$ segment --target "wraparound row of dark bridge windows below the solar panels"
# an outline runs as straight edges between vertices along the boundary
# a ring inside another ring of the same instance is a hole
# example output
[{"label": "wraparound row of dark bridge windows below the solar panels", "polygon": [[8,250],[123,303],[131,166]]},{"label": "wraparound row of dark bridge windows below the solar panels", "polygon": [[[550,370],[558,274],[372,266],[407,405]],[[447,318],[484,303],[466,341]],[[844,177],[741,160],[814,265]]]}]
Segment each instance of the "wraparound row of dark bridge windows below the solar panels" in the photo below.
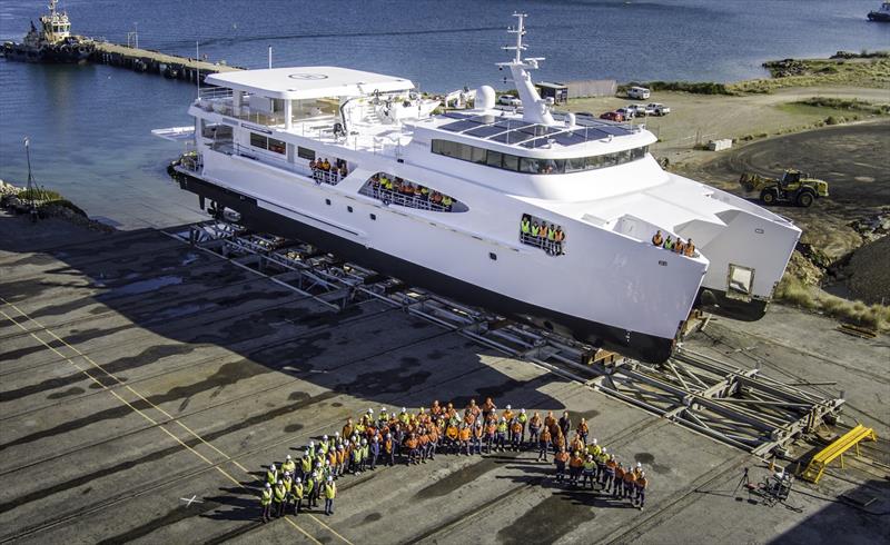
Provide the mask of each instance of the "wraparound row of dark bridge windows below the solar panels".
[{"label": "wraparound row of dark bridge windows below the solar panels", "polygon": [[503,153],[501,151],[469,146],[468,143],[434,139],[432,151],[441,156],[475,162],[477,165],[485,165],[486,167],[500,168],[502,170],[534,175],[557,175],[596,170],[636,161],[649,153],[649,146],[625,149],[613,153],[575,157],[571,159],[537,159]]}]

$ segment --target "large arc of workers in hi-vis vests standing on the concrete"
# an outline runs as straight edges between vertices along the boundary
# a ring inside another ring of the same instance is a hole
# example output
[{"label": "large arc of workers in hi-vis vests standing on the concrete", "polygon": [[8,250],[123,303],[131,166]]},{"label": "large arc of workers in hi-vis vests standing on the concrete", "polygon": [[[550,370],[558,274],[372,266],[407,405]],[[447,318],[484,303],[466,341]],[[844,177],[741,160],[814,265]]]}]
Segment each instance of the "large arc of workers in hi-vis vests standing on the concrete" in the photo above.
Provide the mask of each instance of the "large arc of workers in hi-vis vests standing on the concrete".
[{"label": "large arc of workers in hi-vis vests standing on the concrete", "polygon": [[[572,430],[574,438],[566,445]],[[304,508],[316,507],[322,497],[325,514],[332,515],[336,480],[378,465],[425,464],[443,453],[472,456],[533,448],[538,449],[537,459],[545,463],[547,455],[554,454],[556,482],[565,480],[568,467],[570,484],[577,486],[583,477],[581,485],[590,480],[593,488],[596,482],[603,490],[629,498],[642,509],[646,479],[641,465],[625,468],[597,446],[596,439],[587,445],[589,434],[587,422],[581,418],[573,426],[568,412],[556,419],[552,412],[542,418],[537,412],[530,416],[524,408],[514,410],[511,405],[498,410],[491,397],[482,405],[471,399],[463,410],[438,400],[416,413],[406,407],[389,413],[383,407],[375,416],[369,408],[355,420],[347,418],[333,435],[324,435],[317,443],[310,440],[299,459],[287,455],[280,467],[269,464],[260,496],[263,522],[290,509],[298,515]]]}]

